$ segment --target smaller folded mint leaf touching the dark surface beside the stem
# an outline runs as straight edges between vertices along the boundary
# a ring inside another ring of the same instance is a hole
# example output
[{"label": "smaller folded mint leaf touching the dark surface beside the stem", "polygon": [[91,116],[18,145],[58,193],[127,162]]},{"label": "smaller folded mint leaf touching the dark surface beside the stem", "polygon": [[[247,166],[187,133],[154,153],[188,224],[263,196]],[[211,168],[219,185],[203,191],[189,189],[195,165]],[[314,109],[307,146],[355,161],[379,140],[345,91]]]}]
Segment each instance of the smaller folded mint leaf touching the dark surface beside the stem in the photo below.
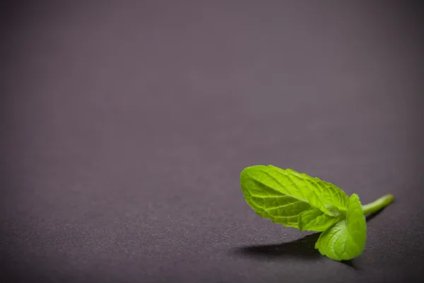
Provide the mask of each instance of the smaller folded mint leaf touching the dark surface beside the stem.
[{"label": "smaller folded mint leaf touching the dark surface beside the stem", "polygon": [[366,238],[367,224],[363,209],[358,195],[353,194],[348,201],[346,219],[322,232],[315,248],[332,260],[351,260],[363,253]]}]

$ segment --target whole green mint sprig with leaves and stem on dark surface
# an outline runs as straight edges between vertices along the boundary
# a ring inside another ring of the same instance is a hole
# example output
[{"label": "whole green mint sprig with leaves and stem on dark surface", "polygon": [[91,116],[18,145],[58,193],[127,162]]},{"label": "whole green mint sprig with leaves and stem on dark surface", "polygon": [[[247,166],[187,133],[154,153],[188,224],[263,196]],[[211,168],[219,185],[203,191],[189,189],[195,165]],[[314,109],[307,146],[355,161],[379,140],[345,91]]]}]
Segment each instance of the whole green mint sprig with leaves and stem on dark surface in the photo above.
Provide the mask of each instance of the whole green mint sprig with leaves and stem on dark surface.
[{"label": "whole green mint sprig with leaves and stem on dark surface", "polygon": [[322,232],[315,248],[333,260],[351,260],[365,248],[365,214],[393,202],[384,195],[362,206],[358,195],[305,173],[275,166],[250,166],[240,175],[247,204],[257,214],[300,231]]}]

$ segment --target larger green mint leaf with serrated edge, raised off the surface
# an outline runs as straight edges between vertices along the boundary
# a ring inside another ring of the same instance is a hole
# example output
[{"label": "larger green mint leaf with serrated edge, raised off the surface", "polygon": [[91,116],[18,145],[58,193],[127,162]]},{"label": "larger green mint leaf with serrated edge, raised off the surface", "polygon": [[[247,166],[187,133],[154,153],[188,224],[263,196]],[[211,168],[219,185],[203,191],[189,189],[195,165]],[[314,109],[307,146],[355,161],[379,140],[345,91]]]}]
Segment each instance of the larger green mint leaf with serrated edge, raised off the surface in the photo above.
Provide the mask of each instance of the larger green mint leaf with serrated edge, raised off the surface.
[{"label": "larger green mint leaf with serrated edge, raised off the surface", "polygon": [[[246,202],[257,214],[285,226],[300,228],[300,214],[310,209],[318,209],[333,218],[346,212],[348,196],[345,192],[291,169],[247,167],[240,175],[240,183]],[[310,216],[307,221],[312,221]],[[306,227],[310,231],[322,231],[322,224],[317,225],[312,222]]]}]

